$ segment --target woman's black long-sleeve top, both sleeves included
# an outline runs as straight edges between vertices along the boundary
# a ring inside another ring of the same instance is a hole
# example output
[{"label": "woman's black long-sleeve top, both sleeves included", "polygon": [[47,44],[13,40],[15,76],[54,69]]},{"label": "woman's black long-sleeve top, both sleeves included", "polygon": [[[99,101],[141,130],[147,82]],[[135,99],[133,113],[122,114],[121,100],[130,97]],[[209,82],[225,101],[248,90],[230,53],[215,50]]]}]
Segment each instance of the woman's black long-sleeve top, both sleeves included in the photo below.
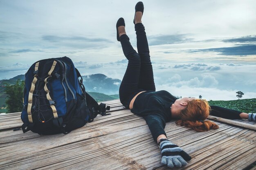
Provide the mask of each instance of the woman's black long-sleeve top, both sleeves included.
[{"label": "woman's black long-sleeve top, both sleeves included", "polygon": [[[171,121],[171,105],[177,100],[165,90],[146,91],[135,99],[131,112],[142,116],[150,129],[155,142],[159,135],[166,135],[165,123]],[[240,111],[211,105],[211,115],[228,119],[240,119]]]}]

